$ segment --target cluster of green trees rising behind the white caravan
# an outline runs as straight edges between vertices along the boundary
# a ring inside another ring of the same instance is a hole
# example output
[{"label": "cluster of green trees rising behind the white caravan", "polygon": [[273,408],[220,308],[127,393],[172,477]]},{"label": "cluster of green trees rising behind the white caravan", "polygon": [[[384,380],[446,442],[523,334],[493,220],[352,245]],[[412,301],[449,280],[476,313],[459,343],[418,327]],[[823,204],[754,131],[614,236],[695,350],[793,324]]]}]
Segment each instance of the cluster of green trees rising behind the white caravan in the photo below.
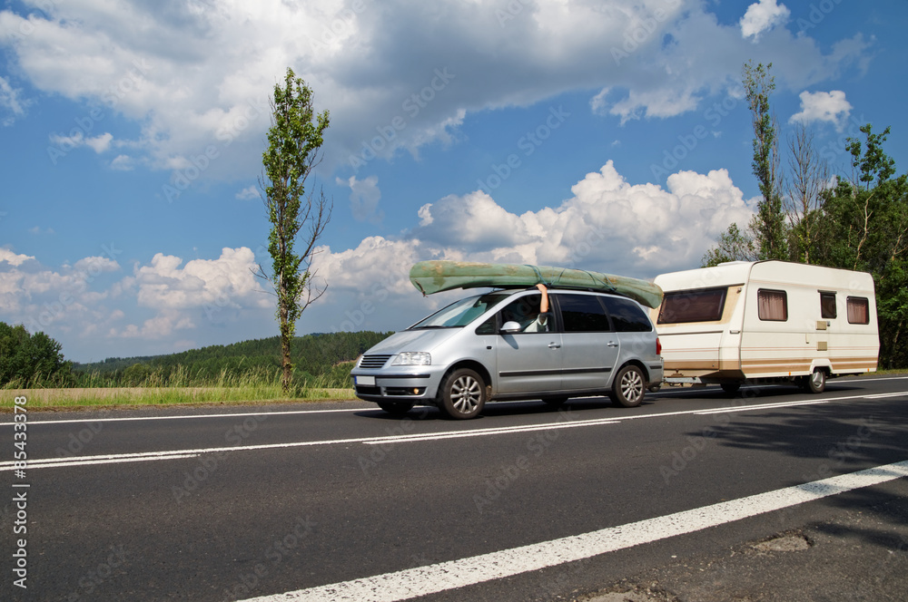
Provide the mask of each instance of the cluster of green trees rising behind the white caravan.
[{"label": "cluster of green trees rising behind the white caravan", "polygon": [[874,133],[869,123],[861,127],[863,138],[849,138],[846,146],[851,176],[833,178],[813,133],[797,124],[783,174],[769,105],[771,66],[747,63],[744,69],[754,116],[752,166],[763,198],[747,230],[731,224],[702,265],[786,259],[869,272],[876,286],[880,365],[908,366],[908,176],[896,176],[895,161],[883,150],[890,128]]}]

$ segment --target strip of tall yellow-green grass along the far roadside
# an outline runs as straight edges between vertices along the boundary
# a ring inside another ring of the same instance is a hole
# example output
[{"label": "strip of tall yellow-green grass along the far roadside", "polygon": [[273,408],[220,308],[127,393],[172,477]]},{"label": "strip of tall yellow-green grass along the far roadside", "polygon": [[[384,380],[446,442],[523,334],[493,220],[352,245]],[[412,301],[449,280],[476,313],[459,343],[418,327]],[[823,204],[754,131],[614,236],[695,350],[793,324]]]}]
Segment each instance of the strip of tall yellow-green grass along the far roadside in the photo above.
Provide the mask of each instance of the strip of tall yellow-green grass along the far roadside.
[{"label": "strip of tall yellow-green grass along the far roadside", "polygon": [[137,406],[209,403],[281,403],[353,399],[352,389],[307,387],[293,397],[277,384],[207,387],[91,387],[72,389],[5,389],[0,391],[0,412],[12,412],[16,397],[28,400],[28,409],[130,408]]}]

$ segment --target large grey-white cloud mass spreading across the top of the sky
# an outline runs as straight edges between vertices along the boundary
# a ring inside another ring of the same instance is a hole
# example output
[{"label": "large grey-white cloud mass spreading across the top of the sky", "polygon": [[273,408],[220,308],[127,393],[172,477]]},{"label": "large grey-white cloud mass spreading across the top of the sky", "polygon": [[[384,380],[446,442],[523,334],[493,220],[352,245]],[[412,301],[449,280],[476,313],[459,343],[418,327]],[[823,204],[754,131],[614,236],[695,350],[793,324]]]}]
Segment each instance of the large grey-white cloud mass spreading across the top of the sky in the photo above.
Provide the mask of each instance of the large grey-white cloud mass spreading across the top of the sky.
[{"label": "large grey-white cloud mass spreading across the top of the sky", "polygon": [[[737,85],[752,54],[742,33],[755,37],[787,15],[761,0],[739,28],[718,24],[706,4],[538,0],[508,5],[502,19],[502,5],[462,0],[55,3],[27,17],[0,11],[0,46],[37,90],[139,124],[136,140],[96,136],[95,150],[128,143],[137,160],[182,170],[213,146],[204,178],[232,180],[255,175],[268,96],[287,65],[311,85],[316,109],[331,109],[329,171],[454,141],[471,112],[562,92],[611,90],[609,102],[596,95],[592,108],[621,121],[692,111]],[[30,34],[17,35],[23,27]],[[800,87],[866,47],[824,55],[807,36],[773,34],[767,62],[780,82]],[[3,89],[8,106],[22,106],[9,100],[8,82]],[[87,145],[88,136],[57,140]]]}]

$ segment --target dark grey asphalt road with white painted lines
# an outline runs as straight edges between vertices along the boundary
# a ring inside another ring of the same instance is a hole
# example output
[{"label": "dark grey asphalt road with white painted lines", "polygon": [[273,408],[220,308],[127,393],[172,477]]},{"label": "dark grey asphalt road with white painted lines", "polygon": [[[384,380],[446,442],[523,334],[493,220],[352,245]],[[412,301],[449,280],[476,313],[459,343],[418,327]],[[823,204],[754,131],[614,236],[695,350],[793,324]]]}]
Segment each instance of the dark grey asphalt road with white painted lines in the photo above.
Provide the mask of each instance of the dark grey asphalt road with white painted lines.
[{"label": "dark grey asphalt road with white painted lines", "polygon": [[906,599],[906,402],[888,376],[467,422],[360,402],[28,413],[19,476],[5,414],[0,598]]}]

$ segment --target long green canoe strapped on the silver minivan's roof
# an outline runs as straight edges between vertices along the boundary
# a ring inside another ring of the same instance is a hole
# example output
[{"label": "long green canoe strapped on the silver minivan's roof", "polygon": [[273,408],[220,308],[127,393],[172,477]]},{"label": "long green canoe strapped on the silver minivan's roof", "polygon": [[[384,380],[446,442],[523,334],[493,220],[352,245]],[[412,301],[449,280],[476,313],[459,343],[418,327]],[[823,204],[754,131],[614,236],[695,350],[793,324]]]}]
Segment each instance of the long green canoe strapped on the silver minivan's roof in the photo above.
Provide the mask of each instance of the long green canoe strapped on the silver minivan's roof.
[{"label": "long green canoe strapped on the silver minivan's roof", "polygon": [[638,278],[612,276],[568,267],[488,264],[472,261],[420,261],[410,268],[410,282],[423,295],[454,288],[481,286],[534,286],[595,289],[614,292],[658,307],[662,289]]}]

